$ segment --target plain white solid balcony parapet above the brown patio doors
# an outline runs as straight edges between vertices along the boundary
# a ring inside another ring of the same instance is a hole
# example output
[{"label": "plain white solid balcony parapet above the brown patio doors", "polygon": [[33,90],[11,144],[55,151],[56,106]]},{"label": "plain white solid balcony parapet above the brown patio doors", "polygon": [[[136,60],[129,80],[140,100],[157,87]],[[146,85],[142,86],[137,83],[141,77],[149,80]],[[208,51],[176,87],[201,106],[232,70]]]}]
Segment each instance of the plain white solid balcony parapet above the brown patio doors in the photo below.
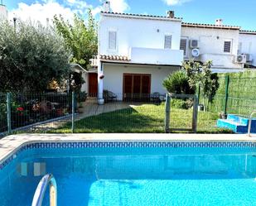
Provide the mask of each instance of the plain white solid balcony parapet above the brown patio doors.
[{"label": "plain white solid balcony parapet above the brown patio doors", "polygon": [[145,65],[181,65],[182,50],[165,50],[132,47],[130,50],[131,63]]}]

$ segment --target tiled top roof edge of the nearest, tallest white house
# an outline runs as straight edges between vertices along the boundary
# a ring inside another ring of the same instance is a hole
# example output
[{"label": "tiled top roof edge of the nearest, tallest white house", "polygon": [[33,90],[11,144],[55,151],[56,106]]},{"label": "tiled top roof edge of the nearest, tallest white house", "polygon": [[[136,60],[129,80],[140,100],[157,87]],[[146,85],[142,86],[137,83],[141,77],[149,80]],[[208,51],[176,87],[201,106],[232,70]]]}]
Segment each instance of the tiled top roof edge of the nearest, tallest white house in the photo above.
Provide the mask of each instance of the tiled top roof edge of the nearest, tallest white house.
[{"label": "tiled top roof edge of the nearest, tallest white house", "polygon": [[143,19],[157,19],[157,20],[166,20],[166,21],[181,21],[180,17],[165,17],[165,16],[156,16],[156,15],[147,15],[147,14],[133,14],[133,13],[119,13],[119,12],[101,12],[106,16],[113,17],[128,17],[128,18],[143,18]]}]

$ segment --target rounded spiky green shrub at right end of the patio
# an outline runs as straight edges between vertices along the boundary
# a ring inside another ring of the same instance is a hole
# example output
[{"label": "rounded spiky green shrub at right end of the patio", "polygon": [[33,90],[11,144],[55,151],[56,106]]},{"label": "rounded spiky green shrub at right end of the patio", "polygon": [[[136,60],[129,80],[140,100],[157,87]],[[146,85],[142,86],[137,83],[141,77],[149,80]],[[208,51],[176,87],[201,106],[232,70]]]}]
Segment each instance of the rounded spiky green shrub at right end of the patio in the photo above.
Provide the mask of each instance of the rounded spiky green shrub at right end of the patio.
[{"label": "rounded spiky green shrub at right end of the patio", "polygon": [[195,89],[190,87],[189,78],[186,72],[178,70],[172,74],[169,74],[167,79],[163,80],[162,85],[167,89],[169,93],[175,94],[193,94]]}]

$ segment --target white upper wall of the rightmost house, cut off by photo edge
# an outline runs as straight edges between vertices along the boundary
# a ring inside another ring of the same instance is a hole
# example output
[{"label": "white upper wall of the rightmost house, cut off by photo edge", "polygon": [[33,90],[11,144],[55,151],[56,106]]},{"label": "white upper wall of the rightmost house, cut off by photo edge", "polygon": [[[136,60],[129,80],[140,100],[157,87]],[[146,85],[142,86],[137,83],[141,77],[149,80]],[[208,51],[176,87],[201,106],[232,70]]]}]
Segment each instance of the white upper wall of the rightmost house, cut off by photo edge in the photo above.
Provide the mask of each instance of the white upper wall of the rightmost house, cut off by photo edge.
[{"label": "white upper wall of the rightmost house, cut off by photo edge", "polygon": [[253,65],[256,66],[256,34],[239,34],[240,53],[253,55]]}]

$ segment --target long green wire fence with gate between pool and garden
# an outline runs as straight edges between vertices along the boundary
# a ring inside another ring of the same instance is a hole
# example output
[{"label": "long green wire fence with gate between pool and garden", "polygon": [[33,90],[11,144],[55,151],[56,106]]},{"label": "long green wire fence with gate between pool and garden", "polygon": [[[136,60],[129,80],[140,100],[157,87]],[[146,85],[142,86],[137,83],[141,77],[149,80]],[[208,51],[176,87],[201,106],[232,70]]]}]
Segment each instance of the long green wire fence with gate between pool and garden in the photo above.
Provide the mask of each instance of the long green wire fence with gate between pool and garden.
[{"label": "long green wire fence with gate between pool and garden", "polygon": [[216,94],[213,102],[182,94],[109,99],[104,105],[89,96],[77,103],[75,93],[2,93],[0,133],[230,132],[216,127],[225,108],[226,113],[245,117],[256,109],[254,98],[225,94]]}]

